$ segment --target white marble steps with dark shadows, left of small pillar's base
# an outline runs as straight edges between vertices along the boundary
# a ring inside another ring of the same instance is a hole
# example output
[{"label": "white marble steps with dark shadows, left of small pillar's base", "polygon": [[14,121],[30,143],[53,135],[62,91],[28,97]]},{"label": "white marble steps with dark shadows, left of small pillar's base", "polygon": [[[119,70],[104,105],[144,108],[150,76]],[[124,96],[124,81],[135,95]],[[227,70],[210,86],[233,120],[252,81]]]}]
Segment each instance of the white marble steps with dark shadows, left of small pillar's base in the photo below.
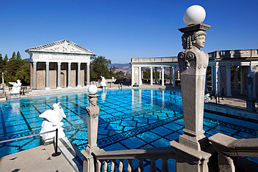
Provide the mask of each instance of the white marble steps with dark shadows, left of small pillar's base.
[{"label": "white marble steps with dark shadows, left of small pillar's base", "polygon": [[67,139],[67,137],[59,139],[58,148],[63,156],[66,157],[70,165],[73,166],[75,171],[83,171],[83,155],[79,152],[79,149]]}]

